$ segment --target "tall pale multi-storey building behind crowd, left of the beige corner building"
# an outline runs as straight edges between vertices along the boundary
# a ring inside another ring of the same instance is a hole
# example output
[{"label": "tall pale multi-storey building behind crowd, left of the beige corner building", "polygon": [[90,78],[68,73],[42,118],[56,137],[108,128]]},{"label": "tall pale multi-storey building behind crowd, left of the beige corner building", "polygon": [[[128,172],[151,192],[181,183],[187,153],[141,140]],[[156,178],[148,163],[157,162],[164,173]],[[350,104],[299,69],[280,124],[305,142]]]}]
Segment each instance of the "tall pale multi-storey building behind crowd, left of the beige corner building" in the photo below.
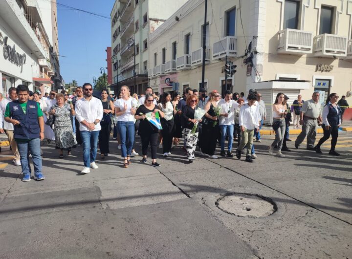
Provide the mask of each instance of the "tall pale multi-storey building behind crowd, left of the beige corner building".
[{"label": "tall pale multi-storey building behind crowd, left of the beige corner building", "polygon": [[[148,86],[149,35],[187,0],[116,0],[111,10],[112,86]],[[135,66],[134,66],[135,65]],[[134,86],[134,67],[136,84]]]}]

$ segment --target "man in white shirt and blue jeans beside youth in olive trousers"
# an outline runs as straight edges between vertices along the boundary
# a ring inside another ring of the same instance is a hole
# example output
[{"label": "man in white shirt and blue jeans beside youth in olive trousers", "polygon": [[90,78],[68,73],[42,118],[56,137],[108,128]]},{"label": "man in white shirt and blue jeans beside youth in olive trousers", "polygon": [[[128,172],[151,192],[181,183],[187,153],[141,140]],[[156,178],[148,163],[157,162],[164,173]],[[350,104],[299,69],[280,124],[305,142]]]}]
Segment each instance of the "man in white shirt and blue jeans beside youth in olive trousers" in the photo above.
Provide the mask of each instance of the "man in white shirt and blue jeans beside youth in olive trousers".
[{"label": "man in white shirt and blue jeans beside youth in olive trousers", "polygon": [[[218,106],[221,107],[219,119],[219,126],[221,130],[220,155],[227,155],[228,157],[233,157],[231,150],[233,142],[233,130],[235,124],[235,109],[238,108],[239,104],[236,101],[232,100],[232,92],[230,90],[226,90],[225,98],[220,100]],[[228,136],[227,153],[225,153],[226,134]]]}]

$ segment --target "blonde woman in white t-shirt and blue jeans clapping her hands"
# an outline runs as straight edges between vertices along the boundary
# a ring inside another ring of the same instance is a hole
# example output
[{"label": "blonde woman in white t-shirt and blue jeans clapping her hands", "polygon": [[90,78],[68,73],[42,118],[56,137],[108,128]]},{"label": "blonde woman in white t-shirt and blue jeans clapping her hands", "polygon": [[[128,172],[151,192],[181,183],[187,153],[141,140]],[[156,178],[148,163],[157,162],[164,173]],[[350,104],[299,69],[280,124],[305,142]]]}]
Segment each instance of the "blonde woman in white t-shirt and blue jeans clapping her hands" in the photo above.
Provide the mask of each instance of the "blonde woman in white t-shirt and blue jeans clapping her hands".
[{"label": "blonde woman in white t-shirt and blue jeans clapping her hands", "polygon": [[117,116],[117,129],[121,139],[121,156],[124,158],[124,168],[131,164],[131,151],[134,142],[134,114],[138,103],[130,96],[130,88],[121,86],[121,99],[114,103]]}]

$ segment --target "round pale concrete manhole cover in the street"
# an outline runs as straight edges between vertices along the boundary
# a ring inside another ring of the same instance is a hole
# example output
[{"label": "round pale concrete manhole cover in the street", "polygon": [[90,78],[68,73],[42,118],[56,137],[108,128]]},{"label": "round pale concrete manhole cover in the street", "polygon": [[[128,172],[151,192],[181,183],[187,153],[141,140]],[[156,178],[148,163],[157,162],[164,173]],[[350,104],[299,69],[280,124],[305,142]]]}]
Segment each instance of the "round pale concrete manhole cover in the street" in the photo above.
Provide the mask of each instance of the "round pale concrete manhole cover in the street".
[{"label": "round pale concrete manhole cover in the street", "polygon": [[277,211],[272,199],[259,194],[226,193],[215,205],[221,211],[235,216],[265,217]]}]

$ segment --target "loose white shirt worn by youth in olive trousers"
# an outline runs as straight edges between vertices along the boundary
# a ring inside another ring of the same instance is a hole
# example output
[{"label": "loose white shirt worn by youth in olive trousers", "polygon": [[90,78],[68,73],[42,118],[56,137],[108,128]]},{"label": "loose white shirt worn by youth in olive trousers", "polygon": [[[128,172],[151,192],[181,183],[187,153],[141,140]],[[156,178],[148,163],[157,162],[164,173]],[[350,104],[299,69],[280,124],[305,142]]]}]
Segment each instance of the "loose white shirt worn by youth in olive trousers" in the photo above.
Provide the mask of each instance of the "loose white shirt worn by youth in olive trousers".
[{"label": "loose white shirt worn by youth in olive trousers", "polygon": [[239,124],[245,129],[259,129],[259,121],[261,116],[258,106],[248,104],[242,105],[240,108]]}]

